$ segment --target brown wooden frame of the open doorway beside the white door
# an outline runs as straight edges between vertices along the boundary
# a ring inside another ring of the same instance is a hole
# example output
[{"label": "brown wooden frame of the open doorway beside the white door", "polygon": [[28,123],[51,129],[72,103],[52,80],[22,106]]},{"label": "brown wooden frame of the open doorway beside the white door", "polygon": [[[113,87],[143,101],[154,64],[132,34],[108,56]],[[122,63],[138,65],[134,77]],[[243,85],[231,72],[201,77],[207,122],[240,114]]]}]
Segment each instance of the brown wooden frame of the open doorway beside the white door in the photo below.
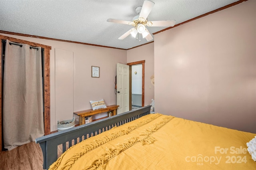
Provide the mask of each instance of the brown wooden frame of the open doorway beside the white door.
[{"label": "brown wooden frame of the open doorway beside the white door", "polygon": [[[145,96],[145,90],[144,90],[144,86],[145,86],[145,60],[142,61],[136,61],[136,62],[132,62],[132,63],[127,63],[127,65],[130,66],[130,87],[129,87],[129,93],[132,94],[132,65],[138,65],[138,64],[142,64],[142,101],[141,101],[141,106],[144,107],[144,96]],[[132,110],[132,95],[130,95],[130,99],[129,99],[129,109]]]}]

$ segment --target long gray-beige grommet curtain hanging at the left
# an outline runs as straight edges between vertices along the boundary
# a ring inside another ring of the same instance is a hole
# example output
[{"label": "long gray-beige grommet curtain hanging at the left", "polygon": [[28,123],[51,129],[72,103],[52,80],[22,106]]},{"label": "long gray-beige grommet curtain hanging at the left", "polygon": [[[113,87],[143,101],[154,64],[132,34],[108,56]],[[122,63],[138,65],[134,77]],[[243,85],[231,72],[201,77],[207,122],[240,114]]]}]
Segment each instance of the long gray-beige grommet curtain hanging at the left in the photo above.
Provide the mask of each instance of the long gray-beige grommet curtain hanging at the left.
[{"label": "long gray-beige grommet curtain hanging at the left", "polygon": [[[3,82],[4,148],[44,135],[41,47],[6,40]],[[22,46],[22,47],[21,47]]]}]

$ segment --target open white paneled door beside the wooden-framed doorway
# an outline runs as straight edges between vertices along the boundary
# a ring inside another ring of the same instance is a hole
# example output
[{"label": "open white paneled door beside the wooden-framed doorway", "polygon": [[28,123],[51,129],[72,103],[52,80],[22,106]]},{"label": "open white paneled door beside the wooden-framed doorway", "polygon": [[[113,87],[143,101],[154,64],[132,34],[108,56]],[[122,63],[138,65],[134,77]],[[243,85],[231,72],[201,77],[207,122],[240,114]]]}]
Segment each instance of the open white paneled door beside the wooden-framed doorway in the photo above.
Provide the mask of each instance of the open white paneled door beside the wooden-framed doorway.
[{"label": "open white paneled door beside the wooden-framed doorway", "polygon": [[117,114],[129,111],[129,65],[116,64]]}]

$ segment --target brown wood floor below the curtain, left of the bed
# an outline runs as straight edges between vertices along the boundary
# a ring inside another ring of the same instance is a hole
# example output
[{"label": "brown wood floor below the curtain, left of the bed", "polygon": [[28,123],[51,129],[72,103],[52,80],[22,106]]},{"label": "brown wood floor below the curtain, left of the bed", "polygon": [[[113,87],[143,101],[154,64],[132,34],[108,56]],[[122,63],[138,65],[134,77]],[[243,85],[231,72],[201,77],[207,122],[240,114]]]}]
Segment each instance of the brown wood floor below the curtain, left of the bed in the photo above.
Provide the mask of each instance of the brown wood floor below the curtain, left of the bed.
[{"label": "brown wood floor below the curtain, left of the bed", "polygon": [[42,150],[35,142],[0,152],[1,170],[42,170],[42,164]]}]

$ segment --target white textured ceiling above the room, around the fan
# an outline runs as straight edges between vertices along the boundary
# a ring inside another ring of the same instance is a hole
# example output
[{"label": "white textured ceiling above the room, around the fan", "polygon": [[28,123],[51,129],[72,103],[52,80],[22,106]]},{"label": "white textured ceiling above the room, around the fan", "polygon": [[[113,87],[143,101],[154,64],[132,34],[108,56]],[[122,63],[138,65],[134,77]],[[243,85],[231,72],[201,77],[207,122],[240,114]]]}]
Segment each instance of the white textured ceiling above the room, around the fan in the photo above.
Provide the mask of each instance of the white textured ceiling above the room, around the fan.
[{"label": "white textured ceiling above the room, around the fan", "polygon": [[[216,10],[238,0],[151,0],[155,3],[149,21],[176,20],[176,24]],[[148,43],[128,36],[126,24],[108,18],[132,21],[135,8],[144,0],[0,0],[0,30],[59,40],[129,49]],[[155,33],[167,27],[147,27]],[[152,35],[154,37],[154,35]],[[154,41],[154,40],[152,40]]]}]

